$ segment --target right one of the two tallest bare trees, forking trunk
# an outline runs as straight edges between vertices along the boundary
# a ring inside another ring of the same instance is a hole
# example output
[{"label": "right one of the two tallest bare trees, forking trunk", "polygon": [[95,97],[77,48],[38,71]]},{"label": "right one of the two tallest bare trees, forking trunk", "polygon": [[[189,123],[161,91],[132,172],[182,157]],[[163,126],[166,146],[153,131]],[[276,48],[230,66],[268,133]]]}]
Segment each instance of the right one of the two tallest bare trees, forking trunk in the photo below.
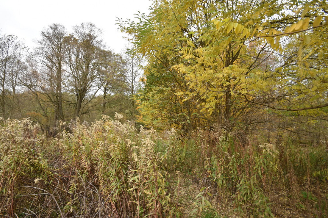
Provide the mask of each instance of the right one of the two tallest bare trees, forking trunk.
[{"label": "right one of the two tallest bare trees, forking trunk", "polygon": [[106,56],[101,31],[92,23],[73,27],[70,35],[67,63],[69,65],[69,90],[75,96],[75,116],[88,113],[88,104],[100,90],[99,72]]}]

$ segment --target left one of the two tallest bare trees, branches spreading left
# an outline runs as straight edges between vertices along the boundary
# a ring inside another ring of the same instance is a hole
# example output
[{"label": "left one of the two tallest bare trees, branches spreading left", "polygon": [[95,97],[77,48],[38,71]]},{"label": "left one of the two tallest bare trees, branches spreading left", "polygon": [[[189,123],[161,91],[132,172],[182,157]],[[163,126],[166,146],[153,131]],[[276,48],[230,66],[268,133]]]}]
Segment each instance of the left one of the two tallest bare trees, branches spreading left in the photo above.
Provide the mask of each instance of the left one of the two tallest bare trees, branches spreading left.
[{"label": "left one of the two tallest bare trees, branches spreading left", "polygon": [[21,83],[37,103],[35,113],[42,116],[37,119],[48,134],[54,134],[58,120],[65,120],[63,113],[63,77],[65,56],[67,55],[67,32],[63,25],[52,24],[41,31],[39,45],[29,56],[29,71],[22,77]]}]

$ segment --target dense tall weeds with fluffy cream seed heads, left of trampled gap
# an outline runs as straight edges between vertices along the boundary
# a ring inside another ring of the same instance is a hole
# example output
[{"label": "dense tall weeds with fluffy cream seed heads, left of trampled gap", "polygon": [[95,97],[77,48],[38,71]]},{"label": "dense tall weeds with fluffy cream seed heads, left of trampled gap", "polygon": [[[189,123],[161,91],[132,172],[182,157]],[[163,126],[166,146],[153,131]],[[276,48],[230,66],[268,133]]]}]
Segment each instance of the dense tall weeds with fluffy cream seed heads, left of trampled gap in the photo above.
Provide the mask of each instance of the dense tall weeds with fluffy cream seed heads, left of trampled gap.
[{"label": "dense tall weeds with fluffy cream seed heads, left of trampled gap", "polygon": [[[108,116],[90,127],[77,119],[57,138],[39,135],[30,120],[2,120],[2,214],[26,217],[175,217],[156,132]],[[169,144],[167,145],[169,146]],[[168,149],[168,148],[167,148]]]}]

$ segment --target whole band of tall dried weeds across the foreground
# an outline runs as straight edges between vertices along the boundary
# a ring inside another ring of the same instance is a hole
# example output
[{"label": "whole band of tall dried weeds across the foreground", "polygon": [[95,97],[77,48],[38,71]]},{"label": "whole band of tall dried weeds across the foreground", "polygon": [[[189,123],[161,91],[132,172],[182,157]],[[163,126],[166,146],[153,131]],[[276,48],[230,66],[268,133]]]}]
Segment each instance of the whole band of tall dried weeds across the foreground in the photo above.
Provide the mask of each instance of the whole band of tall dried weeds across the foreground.
[{"label": "whole band of tall dried weeds across the foreground", "polygon": [[[306,217],[327,215],[327,143],[225,137],[181,140],[108,116],[62,123],[47,138],[30,119],[1,120],[3,217]],[[188,183],[188,181],[190,183]],[[191,193],[185,185],[194,187]],[[192,203],[183,203],[185,199]],[[293,213],[287,213],[287,209]],[[283,211],[282,209],[285,209]]]}]

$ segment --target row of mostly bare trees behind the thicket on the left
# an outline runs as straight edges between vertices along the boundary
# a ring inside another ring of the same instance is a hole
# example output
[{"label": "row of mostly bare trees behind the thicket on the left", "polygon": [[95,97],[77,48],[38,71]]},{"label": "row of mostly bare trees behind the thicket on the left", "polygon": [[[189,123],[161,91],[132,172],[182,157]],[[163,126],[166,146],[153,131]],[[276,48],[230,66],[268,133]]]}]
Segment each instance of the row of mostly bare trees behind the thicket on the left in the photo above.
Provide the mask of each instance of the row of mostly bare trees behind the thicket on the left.
[{"label": "row of mostly bare trees behind the thicket on the left", "polygon": [[134,120],[141,59],[128,48],[123,55],[106,48],[94,24],[72,33],[52,24],[31,53],[12,35],[0,35],[0,43],[1,117],[31,117],[48,134],[75,117],[94,121],[119,111]]}]

